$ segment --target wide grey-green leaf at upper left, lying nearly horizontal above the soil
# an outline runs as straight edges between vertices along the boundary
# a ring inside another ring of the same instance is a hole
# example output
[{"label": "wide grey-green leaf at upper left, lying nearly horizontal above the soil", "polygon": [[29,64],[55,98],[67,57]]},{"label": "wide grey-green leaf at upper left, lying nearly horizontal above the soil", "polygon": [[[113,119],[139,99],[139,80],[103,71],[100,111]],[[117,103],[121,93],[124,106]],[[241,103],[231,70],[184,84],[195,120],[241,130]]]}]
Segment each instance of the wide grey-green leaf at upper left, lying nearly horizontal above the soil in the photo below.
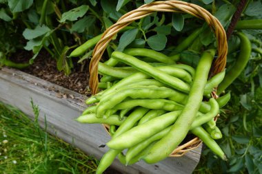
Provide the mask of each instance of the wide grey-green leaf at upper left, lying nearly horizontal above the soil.
[{"label": "wide grey-green leaf at upper left, lying nearly horizontal above the soil", "polygon": [[42,25],[42,26],[37,25],[37,27],[34,28],[33,30],[26,28],[26,30],[23,31],[23,36],[25,39],[31,40],[39,36],[42,36],[50,31],[51,31],[50,28],[48,28],[46,25]]}]

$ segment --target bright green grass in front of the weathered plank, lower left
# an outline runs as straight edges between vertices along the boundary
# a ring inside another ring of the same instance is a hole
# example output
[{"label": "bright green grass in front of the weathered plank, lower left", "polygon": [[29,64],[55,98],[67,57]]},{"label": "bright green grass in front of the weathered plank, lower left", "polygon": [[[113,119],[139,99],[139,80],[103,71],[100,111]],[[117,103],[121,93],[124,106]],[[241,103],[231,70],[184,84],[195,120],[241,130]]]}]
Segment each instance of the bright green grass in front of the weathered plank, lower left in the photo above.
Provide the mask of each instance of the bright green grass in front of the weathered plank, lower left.
[{"label": "bright green grass in front of the weathered plank, lower left", "polygon": [[0,102],[0,173],[95,173],[99,161],[41,129],[32,108],[34,122]]}]

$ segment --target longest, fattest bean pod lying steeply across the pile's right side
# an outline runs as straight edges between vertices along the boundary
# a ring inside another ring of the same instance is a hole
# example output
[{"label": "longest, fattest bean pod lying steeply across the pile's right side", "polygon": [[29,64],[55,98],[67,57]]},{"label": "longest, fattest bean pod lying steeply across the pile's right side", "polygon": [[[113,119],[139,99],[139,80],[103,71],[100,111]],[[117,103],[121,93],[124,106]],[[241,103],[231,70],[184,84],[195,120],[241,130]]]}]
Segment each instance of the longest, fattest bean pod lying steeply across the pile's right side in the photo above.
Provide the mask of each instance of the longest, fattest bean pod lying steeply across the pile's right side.
[{"label": "longest, fattest bean pod lying steeply across the pile's right side", "polygon": [[152,164],[165,159],[165,157],[168,157],[188,134],[191,124],[201,105],[201,101],[203,100],[203,92],[208,80],[213,58],[214,50],[208,50],[201,56],[199,64],[196,67],[196,75],[193,80],[187,104],[183,108],[177,121],[174,122],[168,135],[165,135],[164,138],[154,144],[148,155],[143,158],[145,162]]}]

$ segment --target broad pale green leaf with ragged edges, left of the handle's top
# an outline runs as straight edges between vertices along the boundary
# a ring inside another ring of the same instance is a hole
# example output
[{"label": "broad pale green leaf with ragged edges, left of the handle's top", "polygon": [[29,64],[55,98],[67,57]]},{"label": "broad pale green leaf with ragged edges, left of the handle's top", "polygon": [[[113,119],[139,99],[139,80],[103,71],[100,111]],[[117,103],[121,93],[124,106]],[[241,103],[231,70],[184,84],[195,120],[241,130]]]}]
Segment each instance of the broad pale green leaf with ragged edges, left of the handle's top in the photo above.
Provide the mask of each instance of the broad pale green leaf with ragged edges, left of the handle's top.
[{"label": "broad pale green leaf with ragged edges, left of the handle's top", "polygon": [[61,23],[68,21],[76,21],[79,17],[83,17],[86,12],[88,12],[89,6],[82,5],[78,8],[73,8],[72,10],[69,10],[68,12],[64,12],[62,14],[62,18],[60,20]]}]

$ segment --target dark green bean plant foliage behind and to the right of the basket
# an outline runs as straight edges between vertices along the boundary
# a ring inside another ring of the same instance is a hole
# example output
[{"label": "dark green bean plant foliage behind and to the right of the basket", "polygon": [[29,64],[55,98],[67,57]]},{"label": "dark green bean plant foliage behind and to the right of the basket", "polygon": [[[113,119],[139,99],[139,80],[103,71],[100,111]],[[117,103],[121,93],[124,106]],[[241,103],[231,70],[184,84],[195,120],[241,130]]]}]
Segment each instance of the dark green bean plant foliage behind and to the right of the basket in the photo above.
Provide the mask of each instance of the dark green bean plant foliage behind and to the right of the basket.
[{"label": "dark green bean plant foliage behind and to the right of the basket", "polygon": [[[239,0],[186,0],[211,12],[228,29]],[[69,75],[75,63],[86,65],[94,45],[77,57],[70,53],[79,45],[103,33],[126,12],[152,0],[0,0],[0,52],[11,58],[19,50],[34,54],[34,63],[41,50],[57,61],[57,69]],[[240,20],[261,19],[261,1],[248,1]],[[179,50],[179,43],[199,30],[190,47]],[[237,30],[235,30],[236,32]],[[238,30],[240,31],[240,30]],[[209,150],[203,151],[203,164],[196,173],[262,173],[262,30],[241,30],[252,43],[248,65],[227,90],[231,90],[230,104],[218,120],[223,131],[220,145],[228,156],[224,162]],[[227,71],[236,63],[239,38],[228,38]],[[154,12],[134,21],[114,37],[103,54],[106,61],[114,50],[128,47],[148,47],[167,55],[180,54],[181,63],[196,67],[203,50],[216,47],[214,32],[201,19],[190,14]],[[0,65],[4,65],[3,58]],[[217,169],[218,168],[218,169]]]}]

